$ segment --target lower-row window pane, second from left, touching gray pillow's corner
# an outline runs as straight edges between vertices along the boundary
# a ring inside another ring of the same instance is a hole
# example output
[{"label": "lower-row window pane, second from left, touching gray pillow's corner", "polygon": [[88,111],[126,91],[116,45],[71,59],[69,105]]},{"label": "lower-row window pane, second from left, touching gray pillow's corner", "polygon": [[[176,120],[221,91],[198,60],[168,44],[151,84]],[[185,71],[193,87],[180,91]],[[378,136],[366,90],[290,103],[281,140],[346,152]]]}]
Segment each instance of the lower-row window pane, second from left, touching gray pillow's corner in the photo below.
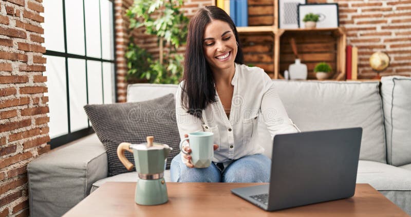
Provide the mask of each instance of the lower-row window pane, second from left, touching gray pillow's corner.
[{"label": "lower-row window pane, second from left, touching gray pillow's corner", "polygon": [[86,61],[68,58],[70,132],[88,128],[83,106],[87,104]]}]

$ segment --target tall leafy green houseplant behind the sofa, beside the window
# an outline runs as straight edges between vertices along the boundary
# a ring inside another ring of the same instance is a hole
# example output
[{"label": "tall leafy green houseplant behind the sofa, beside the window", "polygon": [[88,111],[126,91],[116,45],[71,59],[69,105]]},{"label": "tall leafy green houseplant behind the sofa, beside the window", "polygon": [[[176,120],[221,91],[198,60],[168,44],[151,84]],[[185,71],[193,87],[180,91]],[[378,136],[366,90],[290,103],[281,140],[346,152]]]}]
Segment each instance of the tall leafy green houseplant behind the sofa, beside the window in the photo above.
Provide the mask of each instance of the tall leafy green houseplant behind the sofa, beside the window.
[{"label": "tall leafy green houseplant behind the sofa, beside the window", "polygon": [[[183,73],[183,56],[177,49],[185,44],[189,19],[181,11],[183,0],[135,0],[127,10],[130,31],[145,28],[146,34],[158,37],[159,59],[130,39],[126,51],[126,79],[146,79],[150,83],[177,84]],[[164,50],[165,45],[167,50]]]}]

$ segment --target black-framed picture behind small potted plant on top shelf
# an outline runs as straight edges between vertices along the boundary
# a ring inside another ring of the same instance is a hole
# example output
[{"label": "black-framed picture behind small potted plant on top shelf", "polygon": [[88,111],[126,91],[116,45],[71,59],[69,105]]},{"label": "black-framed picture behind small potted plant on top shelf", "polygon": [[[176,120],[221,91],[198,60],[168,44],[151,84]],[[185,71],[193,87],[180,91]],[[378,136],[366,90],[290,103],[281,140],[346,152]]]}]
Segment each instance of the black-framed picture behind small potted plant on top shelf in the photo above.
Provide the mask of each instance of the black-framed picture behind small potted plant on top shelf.
[{"label": "black-framed picture behind small potted plant on top shelf", "polygon": [[338,4],[298,5],[298,27],[304,27],[303,19],[307,13],[314,13],[320,16],[316,28],[336,28],[340,24]]}]

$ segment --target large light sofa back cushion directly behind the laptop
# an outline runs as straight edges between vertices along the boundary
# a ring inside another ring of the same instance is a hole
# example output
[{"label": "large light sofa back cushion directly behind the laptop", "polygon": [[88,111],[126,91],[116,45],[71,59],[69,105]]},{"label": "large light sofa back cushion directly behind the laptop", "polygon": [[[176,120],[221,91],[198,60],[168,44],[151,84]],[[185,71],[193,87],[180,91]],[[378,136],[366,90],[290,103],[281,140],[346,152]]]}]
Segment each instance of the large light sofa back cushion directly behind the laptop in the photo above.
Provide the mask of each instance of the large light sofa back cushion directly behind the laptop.
[{"label": "large light sofa back cushion directly behind the laptop", "polygon": [[379,82],[273,80],[289,117],[302,131],[361,126],[360,159],[385,162]]}]

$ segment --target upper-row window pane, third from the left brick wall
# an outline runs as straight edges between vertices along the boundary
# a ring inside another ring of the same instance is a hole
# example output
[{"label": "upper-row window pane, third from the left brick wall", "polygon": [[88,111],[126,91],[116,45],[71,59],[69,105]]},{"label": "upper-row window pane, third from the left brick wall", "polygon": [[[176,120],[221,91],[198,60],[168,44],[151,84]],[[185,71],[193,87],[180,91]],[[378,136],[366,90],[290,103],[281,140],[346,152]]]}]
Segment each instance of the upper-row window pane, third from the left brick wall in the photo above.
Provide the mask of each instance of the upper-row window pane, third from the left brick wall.
[{"label": "upper-row window pane, third from the left brick wall", "polygon": [[84,1],[87,56],[101,58],[99,0]]}]

